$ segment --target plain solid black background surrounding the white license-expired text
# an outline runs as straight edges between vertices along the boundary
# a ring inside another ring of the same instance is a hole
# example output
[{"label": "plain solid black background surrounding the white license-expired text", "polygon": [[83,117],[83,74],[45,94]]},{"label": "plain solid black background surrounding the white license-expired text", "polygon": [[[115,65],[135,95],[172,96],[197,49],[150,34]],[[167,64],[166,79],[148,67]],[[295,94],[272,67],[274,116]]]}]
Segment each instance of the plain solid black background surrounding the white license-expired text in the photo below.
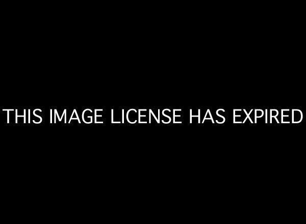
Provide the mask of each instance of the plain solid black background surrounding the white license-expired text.
[{"label": "plain solid black background surrounding the white license-expired text", "polygon": [[[299,213],[304,121],[234,125],[231,114],[304,113],[296,8],[49,7],[4,15],[1,108],[183,108],[184,124],[29,126],[2,117],[6,211],[144,220]],[[227,121],[191,126],[189,108],[224,108]]]}]

